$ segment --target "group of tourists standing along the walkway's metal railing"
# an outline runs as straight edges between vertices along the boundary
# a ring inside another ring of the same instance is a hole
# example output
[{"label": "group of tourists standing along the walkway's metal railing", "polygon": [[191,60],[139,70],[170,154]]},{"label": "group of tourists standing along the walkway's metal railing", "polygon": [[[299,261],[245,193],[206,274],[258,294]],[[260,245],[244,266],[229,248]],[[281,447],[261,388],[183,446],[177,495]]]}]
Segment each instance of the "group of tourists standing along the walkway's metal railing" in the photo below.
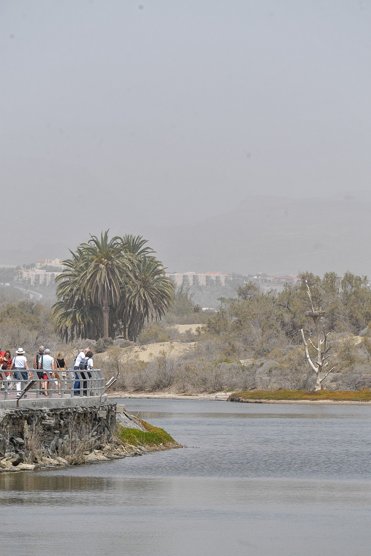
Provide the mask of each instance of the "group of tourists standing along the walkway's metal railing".
[{"label": "group of tourists standing along the walkway's metal railing", "polygon": [[[24,355],[26,351],[22,347],[18,347],[14,358],[12,358],[11,352],[9,350],[2,351],[0,346],[0,370],[3,371],[6,378],[13,377],[16,382],[17,398],[21,396],[22,390],[25,388],[27,379],[31,378],[29,373],[29,366],[27,363],[27,358]],[[75,365],[73,370],[80,371],[81,377],[83,379],[83,395],[87,394],[87,379],[91,378],[90,369],[93,368],[93,353],[90,347],[82,349],[75,359]],[[61,395],[61,381],[66,380],[68,366],[63,356],[62,351],[58,351],[56,358],[51,356],[50,349],[48,347],[39,346],[38,353],[34,355],[33,358],[33,369],[36,370],[37,377],[39,379],[39,389],[40,393],[44,396],[49,395],[50,390],[50,380],[49,376],[55,381],[58,388],[58,394]],[[87,371],[84,373],[83,371]],[[75,373],[75,384],[73,385],[73,394],[80,396],[80,379]],[[8,390],[13,386],[13,381],[7,381]],[[5,389],[4,381],[2,381],[1,390]],[[27,398],[27,394],[24,394],[24,398]]]}]

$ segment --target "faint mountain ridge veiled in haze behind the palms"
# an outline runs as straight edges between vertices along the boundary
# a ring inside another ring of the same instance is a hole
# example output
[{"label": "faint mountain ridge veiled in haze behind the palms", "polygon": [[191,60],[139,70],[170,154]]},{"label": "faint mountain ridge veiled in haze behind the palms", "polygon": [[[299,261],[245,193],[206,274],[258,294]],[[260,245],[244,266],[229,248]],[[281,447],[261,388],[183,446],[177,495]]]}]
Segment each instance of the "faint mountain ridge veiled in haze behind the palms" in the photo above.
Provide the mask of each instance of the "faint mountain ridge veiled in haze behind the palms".
[{"label": "faint mountain ridge veiled in haze behind the palms", "polygon": [[[112,234],[138,233],[153,246],[169,271],[271,272],[318,274],[347,270],[371,275],[371,198],[251,196],[235,209],[179,226],[133,225],[113,222]],[[43,257],[68,256],[88,231],[99,233],[98,222],[71,222],[65,230],[53,224],[46,242],[19,251],[0,250],[3,264],[22,264]],[[106,221],[107,226],[110,225]],[[66,234],[66,235],[65,235]],[[32,235],[32,234],[31,234]],[[66,242],[68,236],[68,243]],[[57,243],[49,243],[54,239]]]}]

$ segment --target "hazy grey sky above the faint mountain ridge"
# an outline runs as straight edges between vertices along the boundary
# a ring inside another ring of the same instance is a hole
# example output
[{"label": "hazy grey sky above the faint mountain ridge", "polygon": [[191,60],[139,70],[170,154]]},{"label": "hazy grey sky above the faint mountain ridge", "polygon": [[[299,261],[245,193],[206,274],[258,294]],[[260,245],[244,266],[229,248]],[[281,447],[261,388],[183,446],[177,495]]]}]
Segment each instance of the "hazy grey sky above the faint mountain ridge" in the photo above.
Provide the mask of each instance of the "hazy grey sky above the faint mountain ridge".
[{"label": "hazy grey sky above the faint mountain ridge", "polygon": [[370,188],[369,0],[0,7],[2,201],[33,222],[2,245]]}]

